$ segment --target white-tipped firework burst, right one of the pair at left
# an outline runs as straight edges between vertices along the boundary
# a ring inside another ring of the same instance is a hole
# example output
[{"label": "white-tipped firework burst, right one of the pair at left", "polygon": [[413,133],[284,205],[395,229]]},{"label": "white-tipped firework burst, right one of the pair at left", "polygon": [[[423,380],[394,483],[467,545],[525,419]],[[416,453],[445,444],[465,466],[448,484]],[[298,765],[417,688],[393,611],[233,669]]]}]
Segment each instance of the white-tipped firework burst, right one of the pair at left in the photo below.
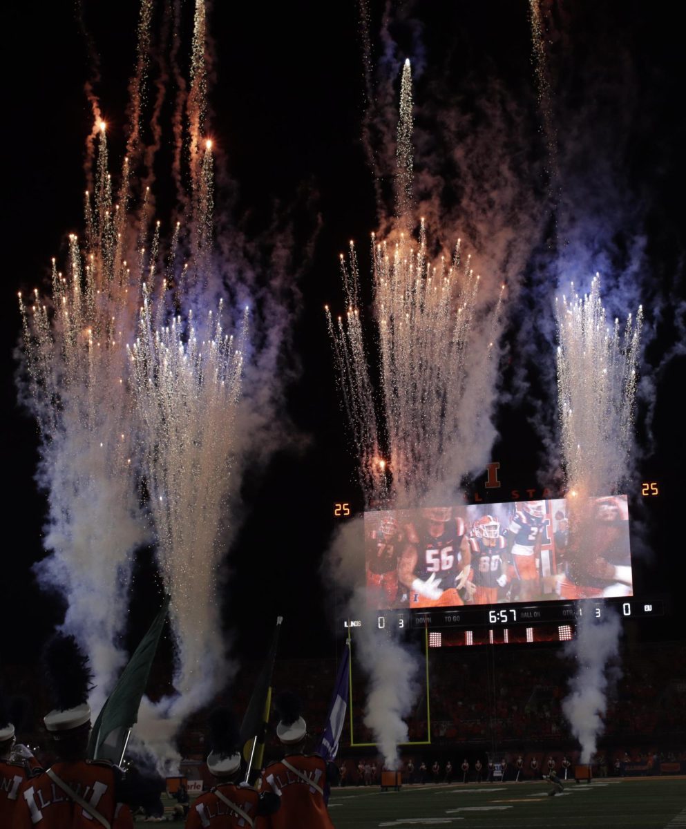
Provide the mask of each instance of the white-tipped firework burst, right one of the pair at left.
[{"label": "white-tipped firework burst, right one of the pair at left", "polygon": [[174,685],[181,695],[169,708],[174,716],[197,710],[226,678],[215,579],[224,555],[247,312],[236,342],[221,316],[220,305],[200,322],[176,317],[156,330],[146,290],[130,350],[148,507],[171,594]]}]

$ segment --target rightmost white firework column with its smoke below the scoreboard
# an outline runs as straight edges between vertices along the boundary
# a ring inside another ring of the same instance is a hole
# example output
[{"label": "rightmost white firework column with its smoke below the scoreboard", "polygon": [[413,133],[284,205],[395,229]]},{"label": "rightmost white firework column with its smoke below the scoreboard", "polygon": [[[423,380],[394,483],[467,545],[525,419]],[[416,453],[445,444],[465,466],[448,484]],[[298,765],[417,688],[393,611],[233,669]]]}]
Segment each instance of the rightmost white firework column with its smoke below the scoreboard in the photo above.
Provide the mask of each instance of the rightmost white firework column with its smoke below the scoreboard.
[{"label": "rightmost white firework column with its smoke below the scoreboard", "polygon": [[[570,546],[591,550],[594,523],[589,497],[619,492],[630,473],[634,402],[642,310],[609,327],[597,274],[583,298],[574,292],[557,306],[558,414],[568,490],[575,495],[570,514]],[[567,652],[577,660],[563,710],[590,762],[606,710],[607,665],[616,656],[621,624],[616,613],[596,621],[582,615],[577,639]]]}]

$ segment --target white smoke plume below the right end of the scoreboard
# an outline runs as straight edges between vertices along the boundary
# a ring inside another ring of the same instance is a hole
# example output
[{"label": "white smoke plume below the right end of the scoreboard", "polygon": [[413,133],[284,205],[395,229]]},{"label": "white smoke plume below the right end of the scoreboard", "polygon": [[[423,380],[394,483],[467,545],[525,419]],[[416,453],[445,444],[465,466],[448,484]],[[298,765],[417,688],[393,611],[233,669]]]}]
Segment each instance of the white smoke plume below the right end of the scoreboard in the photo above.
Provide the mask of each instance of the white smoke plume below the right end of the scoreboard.
[{"label": "white smoke plume below the right end of the scoreboard", "polygon": [[604,728],[607,690],[618,678],[611,671],[611,660],[618,656],[621,636],[619,615],[605,610],[601,620],[592,613],[578,617],[577,638],[568,642],[565,652],[577,662],[577,672],[569,683],[569,695],[563,701],[563,713],[572,725],[572,734],[581,743],[582,764],[591,762],[598,734]]}]

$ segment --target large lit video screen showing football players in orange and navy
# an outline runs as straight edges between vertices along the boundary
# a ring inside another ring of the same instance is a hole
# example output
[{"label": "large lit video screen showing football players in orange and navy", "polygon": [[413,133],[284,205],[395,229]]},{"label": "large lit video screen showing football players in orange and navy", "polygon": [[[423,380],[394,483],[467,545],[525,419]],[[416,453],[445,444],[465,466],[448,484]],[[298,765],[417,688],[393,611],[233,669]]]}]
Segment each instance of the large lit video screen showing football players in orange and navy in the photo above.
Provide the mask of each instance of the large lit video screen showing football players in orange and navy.
[{"label": "large lit video screen showing football players in orange and navy", "polygon": [[365,570],[378,610],[633,596],[627,497],[367,511]]}]

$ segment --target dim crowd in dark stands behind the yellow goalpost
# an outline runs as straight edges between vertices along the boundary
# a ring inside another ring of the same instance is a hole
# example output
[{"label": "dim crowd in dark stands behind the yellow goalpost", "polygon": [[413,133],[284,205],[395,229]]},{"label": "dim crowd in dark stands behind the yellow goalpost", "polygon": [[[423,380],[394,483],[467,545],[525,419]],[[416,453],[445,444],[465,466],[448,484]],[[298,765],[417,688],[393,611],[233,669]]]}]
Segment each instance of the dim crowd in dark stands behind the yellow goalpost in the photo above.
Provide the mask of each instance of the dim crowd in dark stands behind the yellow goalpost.
[{"label": "dim crowd in dark stands behind the yellow goalpost", "polygon": [[[234,682],[229,702],[244,711],[254,688],[261,662],[247,664]],[[680,764],[686,771],[686,661],[680,642],[631,643],[623,647],[611,667],[608,705],[594,774],[656,773],[660,764]],[[7,686],[26,696],[38,712],[45,709],[41,684],[27,669],[5,667]],[[430,770],[436,757],[442,768],[452,760],[459,774],[462,755],[467,754],[473,772],[477,755],[486,763],[494,754],[506,756],[510,764],[524,754],[525,769],[534,754],[539,764],[554,755],[558,761],[568,754],[576,762],[578,744],[562,710],[562,702],[573,673],[573,664],[563,650],[553,645],[496,647],[442,647],[429,650],[431,747],[413,754],[417,773],[421,759]],[[310,734],[321,734],[336,676],[336,659],[277,660],[275,689],[297,687],[308,712]],[[152,686],[162,688],[152,676]],[[353,730],[355,744],[373,743],[374,734],[364,722],[365,677],[358,666],[353,671]],[[37,698],[36,698],[37,697]],[[23,739],[41,759],[43,734],[40,718]],[[408,718],[408,740],[428,739],[427,701],[420,696]],[[181,755],[201,761],[206,754],[206,712],[186,721],[179,737]],[[403,749],[404,750],[404,749]],[[459,753],[461,756],[457,756]],[[436,757],[433,755],[436,754]],[[372,759],[374,755],[374,759]],[[358,763],[377,764],[375,749],[361,752],[350,746],[348,720],[341,739],[341,757],[346,760],[346,780],[357,782]],[[48,758],[46,758],[48,759]],[[495,758],[500,761],[500,756]],[[617,764],[619,761],[619,764]],[[428,778],[430,778],[430,773]],[[365,773],[362,773],[364,784]],[[377,778],[373,777],[376,783]]]}]

